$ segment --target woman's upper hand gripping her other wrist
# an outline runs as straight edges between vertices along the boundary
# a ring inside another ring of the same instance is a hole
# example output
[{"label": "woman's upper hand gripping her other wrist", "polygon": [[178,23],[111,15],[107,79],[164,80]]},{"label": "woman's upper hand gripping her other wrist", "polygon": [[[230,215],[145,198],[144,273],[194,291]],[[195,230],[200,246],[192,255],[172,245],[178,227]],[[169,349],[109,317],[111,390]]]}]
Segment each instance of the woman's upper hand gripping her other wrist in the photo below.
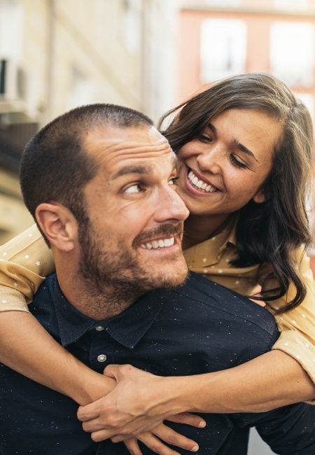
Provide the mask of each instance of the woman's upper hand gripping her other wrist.
[{"label": "woman's upper hand gripping her other wrist", "polygon": [[109,437],[113,442],[126,440],[151,430],[171,415],[173,421],[204,428],[204,419],[172,405],[176,395],[172,377],[155,376],[132,365],[109,365],[104,374],[116,379],[116,388],[78,409],[83,430],[92,433],[95,442]]}]

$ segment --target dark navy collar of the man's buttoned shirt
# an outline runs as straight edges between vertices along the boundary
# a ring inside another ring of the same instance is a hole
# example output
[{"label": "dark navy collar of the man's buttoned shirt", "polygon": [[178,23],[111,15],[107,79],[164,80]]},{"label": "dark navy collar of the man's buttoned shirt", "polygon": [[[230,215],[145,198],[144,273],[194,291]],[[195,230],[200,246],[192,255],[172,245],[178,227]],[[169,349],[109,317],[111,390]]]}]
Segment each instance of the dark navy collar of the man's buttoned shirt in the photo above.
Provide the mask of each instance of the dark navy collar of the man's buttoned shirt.
[{"label": "dark navy collar of the man's buttoned shirt", "polygon": [[156,298],[155,293],[148,293],[117,316],[95,321],[80,313],[66,300],[57,278],[54,303],[62,346],[76,342],[92,328],[102,325],[111,337],[130,349],[134,348],[148,331],[163,305],[162,299]]}]

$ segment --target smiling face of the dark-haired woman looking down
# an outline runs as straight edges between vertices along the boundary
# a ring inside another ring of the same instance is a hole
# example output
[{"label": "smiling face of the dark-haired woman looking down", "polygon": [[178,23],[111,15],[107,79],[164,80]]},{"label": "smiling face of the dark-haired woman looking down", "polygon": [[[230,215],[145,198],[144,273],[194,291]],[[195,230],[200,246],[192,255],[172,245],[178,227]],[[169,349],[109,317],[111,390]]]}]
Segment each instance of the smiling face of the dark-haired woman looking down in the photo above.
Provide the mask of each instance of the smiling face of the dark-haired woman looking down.
[{"label": "smiling face of the dark-haired woman looking down", "polygon": [[228,109],[211,120],[178,153],[178,190],[190,214],[228,215],[251,199],[264,202],[260,187],[282,130],[259,111]]}]

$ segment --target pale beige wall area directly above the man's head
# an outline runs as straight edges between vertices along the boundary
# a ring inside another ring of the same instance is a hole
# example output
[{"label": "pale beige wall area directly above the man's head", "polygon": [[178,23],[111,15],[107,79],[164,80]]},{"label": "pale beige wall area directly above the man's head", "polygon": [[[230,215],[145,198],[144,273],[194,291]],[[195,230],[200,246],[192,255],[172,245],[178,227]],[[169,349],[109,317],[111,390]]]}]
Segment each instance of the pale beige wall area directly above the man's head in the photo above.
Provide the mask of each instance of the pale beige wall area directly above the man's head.
[{"label": "pale beige wall area directly above the man's head", "polygon": [[178,0],[15,1],[29,101],[45,112],[42,123],[69,108],[73,68],[89,83],[90,102],[149,116],[172,106]]}]

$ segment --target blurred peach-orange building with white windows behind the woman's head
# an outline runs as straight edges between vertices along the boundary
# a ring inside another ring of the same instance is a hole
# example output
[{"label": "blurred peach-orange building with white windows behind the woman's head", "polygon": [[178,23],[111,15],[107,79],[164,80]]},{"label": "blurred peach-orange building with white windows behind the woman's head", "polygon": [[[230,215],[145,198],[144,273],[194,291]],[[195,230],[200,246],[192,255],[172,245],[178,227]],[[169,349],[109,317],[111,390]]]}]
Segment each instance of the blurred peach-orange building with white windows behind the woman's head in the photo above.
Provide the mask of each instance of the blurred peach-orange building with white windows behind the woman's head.
[{"label": "blurred peach-orange building with white windows behind the woman's head", "polygon": [[263,71],[314,117],[314,0],[183,0],[180,24],[179,102],[214,80]]}]

